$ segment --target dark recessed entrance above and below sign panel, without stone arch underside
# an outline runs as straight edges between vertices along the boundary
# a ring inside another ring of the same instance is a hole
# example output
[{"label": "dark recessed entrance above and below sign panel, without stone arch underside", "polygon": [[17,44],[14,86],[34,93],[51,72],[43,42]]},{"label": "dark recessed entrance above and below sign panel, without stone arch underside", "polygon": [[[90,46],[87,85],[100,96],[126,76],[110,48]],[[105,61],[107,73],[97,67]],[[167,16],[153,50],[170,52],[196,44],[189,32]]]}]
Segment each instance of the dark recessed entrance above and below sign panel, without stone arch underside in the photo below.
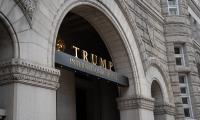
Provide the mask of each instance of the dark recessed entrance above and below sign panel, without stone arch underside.
[{"label": "dark recessed entrance above and below sign panel, without stone arch underside", "polygon": [[[64,18],[56,47],[86,62],[94,62],[91,56],[96,55],[97,66],[114,71],[114,66],[109,64],[112,62],[109,52],[98,32],[78,14],[70,12]],[[102,60],[106,60],[106,67],[102,66]],[[57,120],[119,120],[117,84],[78,69],[60,64],[56,64],[56,67],[61,70]]]}]

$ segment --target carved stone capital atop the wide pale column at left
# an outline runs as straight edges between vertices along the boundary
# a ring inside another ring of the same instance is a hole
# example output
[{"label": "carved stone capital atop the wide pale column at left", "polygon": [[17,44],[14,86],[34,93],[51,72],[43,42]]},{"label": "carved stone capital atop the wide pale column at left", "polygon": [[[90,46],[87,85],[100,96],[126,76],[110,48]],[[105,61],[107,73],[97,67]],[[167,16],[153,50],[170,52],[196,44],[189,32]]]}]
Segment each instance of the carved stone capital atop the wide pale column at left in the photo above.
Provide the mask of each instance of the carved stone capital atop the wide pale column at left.
[{"label": "carved stone capital atop the wide pale column at left", "polygon": [[48,89],[59,87],[60,71],[22,59],[0,62],[0,85],[23,83]]}]

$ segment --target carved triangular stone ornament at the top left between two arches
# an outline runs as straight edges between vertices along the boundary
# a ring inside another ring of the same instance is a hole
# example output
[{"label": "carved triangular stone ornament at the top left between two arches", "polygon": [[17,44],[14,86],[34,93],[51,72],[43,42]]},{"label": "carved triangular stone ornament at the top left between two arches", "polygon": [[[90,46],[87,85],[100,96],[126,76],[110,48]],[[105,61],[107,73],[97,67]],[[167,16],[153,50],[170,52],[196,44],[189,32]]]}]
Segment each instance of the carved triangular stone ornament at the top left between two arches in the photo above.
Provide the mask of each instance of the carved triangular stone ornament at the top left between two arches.
[{"label": "carved triangular stone ornament at the top left between two arches", "polygon": [[38,0],[15,0],[15,2],[20,6],[31,25],[33,13],[37,7]]}]

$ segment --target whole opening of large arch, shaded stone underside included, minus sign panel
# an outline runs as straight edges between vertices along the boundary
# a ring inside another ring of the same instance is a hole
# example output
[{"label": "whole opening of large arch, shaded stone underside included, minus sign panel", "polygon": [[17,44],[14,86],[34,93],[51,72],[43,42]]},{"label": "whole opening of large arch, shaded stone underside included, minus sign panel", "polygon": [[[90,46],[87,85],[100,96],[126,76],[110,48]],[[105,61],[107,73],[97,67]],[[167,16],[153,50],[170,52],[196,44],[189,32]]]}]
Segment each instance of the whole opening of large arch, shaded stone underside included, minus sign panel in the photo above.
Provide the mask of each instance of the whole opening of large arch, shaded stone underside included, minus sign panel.
[{"label": "whole opening of large arch, shaded stone underside included, minus sign panel", "polygon": [[[58,41],[61,46],[56,44],[57,50],[89,62],[89,54],[92,53],[112,61],[112,71],[129,77],[132,75],[119,33],[109,19],[93,7],[83,5],[68,12],[61,23]],[[87,60],[83,56],[84,51],[87,51]],[[66,70],[59,64],[56,67],[61,70],[60,88],[57,91],[58,120],[70,117],[77,120],[119,119],[116,84],[77,70]],[[63,111],[67,111],[68,115]]]}]

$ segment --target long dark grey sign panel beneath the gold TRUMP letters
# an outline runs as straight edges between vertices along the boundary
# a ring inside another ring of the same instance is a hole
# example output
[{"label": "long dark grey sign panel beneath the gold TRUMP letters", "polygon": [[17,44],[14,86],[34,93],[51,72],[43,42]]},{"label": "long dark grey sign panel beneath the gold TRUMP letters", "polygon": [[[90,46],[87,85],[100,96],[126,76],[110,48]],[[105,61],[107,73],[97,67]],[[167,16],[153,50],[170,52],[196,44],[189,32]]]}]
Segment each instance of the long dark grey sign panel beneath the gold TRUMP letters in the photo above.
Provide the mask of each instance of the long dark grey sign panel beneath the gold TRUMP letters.
[{"label": "long dark grey sign panel beneath the gold TRUMP letters", "polygon": [[126,76],[105,69],[102,66],[96,66],[92,63],[81,60],[64,52],[56,51],[55,62],[70,69],[78,70],[87,74],[103,78],[105,80],[109,80],[121,86],[128,86],[128,78]]}]

